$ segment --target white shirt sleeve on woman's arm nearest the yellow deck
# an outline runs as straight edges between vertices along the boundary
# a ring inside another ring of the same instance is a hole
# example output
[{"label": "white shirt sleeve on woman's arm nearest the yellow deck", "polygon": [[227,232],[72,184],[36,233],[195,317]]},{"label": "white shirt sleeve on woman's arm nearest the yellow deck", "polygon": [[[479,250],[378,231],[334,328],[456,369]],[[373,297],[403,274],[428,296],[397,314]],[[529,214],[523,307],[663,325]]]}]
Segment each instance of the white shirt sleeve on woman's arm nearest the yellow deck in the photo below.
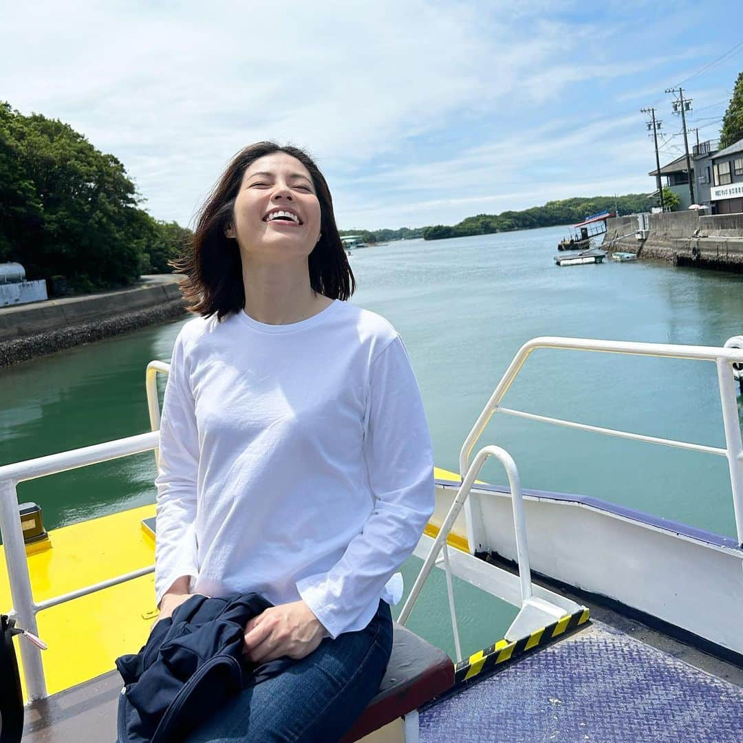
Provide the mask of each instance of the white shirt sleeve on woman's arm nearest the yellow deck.
[{"label": "white shirt sleeve on woman's arm nearest the yellow deck", "polygon": [[181,334],[175,339],[160,418],[155,510],[155,603],[176,579],[198,576],[195,535],[198,429]]}]

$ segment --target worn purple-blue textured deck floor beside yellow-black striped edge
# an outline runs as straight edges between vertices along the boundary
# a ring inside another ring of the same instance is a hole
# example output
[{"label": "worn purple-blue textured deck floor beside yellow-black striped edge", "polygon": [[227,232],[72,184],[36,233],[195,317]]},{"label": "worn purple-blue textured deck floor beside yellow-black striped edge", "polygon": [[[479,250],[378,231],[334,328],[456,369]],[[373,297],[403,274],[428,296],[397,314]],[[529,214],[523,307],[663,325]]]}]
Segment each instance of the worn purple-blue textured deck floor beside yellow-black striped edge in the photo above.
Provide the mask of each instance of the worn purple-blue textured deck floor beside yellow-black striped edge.
[{"label": "worn purple-blue textured deck floor beside yellow-black striped edge", "polygon": [[593,622],[421,713],[421,743],[742,743],[743,689]]}]

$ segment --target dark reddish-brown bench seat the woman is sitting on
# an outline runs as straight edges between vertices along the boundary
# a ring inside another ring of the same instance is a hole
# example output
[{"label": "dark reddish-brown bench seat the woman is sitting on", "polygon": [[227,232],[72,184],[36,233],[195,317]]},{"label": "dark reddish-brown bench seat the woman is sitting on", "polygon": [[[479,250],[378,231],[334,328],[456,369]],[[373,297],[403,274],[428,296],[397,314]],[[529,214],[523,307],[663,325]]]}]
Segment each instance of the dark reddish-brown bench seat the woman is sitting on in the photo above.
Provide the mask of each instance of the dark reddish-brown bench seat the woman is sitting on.
[{"label": "dark reddish-brown bench seat the woman is sitting on", "polygon": [[[454,684],[444,652],[395,623],[395,640],[380,690],[344,743],[358,740],[421,707]],[[100,743],[116,740],[121,676],[110,671],[35,702],[26,709],[24,743]]]}]

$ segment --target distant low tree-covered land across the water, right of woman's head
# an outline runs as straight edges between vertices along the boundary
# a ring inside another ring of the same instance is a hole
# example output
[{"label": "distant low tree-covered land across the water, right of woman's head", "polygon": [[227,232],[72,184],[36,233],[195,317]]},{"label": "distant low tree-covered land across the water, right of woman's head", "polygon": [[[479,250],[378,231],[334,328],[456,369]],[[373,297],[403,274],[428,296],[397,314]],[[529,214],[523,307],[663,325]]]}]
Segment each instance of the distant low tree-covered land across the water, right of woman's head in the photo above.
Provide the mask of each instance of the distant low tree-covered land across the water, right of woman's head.
[{"label": "distant low tree-covered land across the water, right of woman's head", "polygon": [[564,198],[548,201],[542,207],[531,207],[520,212],[501,212],[500,214],[478,214],[467,217],[458,224],[434,224],[430,227],[401,227],[399,230],[341,230],[341,235],[359,235],[366,242],[386,242],[390,240],[443,240],[450,237],[470,235],[490,235],[513,230],[533,230],[536,227],[555,227],[558,224],[574,224],[583,221],[590,214],[614,212],[633,214],[649,212],[655,206],[655,199],[642,193],[624,196],[591,196],[588,198]]}]

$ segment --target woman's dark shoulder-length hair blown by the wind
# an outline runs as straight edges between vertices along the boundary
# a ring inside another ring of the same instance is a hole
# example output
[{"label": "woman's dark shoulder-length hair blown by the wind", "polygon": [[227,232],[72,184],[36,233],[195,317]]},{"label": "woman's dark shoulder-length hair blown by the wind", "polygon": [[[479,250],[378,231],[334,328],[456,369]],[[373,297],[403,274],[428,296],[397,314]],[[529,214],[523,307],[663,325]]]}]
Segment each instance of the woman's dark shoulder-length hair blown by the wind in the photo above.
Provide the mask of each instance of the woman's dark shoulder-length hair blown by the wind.
[{"label": "woman's dark shoulder-length hair blown by the wind", "polygon": [[302,149],[256,142],[235,155],[198,212],[196,230],[184,256],[170,261],[186,278],[181,282],[188,310],[202,317],[216,313],[217,319],[239,312],[245,305],[242,263],[236,239],[225,230],[233,223],[233,211],[245,170],[254,160],[274,152],[285,152],[299,160],[311,175],[320,203],[320,239],[309,256],[310,285],[330,299],[348,299],[356,280],[348,265],[333,213],[333,198],[325,177]]}]

